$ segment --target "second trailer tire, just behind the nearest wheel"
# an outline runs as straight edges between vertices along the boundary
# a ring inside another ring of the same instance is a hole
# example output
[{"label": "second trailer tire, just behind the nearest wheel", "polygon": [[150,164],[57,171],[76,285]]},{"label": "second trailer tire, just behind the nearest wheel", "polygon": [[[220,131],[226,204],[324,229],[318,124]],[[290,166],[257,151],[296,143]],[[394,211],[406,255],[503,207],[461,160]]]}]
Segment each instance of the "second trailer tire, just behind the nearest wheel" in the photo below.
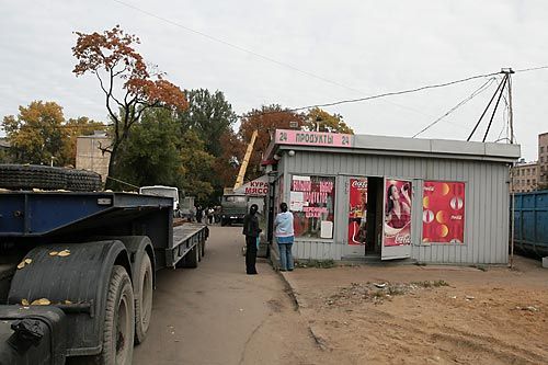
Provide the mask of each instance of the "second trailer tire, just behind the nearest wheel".
[{"label": "second trailer tire, just behind the nearest wheel", "polygon": [[147,337],[152,317],[152,263],[147,253],[142,255],[138,272],[137,285],[139,293],[135,294],[135,343],[142,343]]}]

